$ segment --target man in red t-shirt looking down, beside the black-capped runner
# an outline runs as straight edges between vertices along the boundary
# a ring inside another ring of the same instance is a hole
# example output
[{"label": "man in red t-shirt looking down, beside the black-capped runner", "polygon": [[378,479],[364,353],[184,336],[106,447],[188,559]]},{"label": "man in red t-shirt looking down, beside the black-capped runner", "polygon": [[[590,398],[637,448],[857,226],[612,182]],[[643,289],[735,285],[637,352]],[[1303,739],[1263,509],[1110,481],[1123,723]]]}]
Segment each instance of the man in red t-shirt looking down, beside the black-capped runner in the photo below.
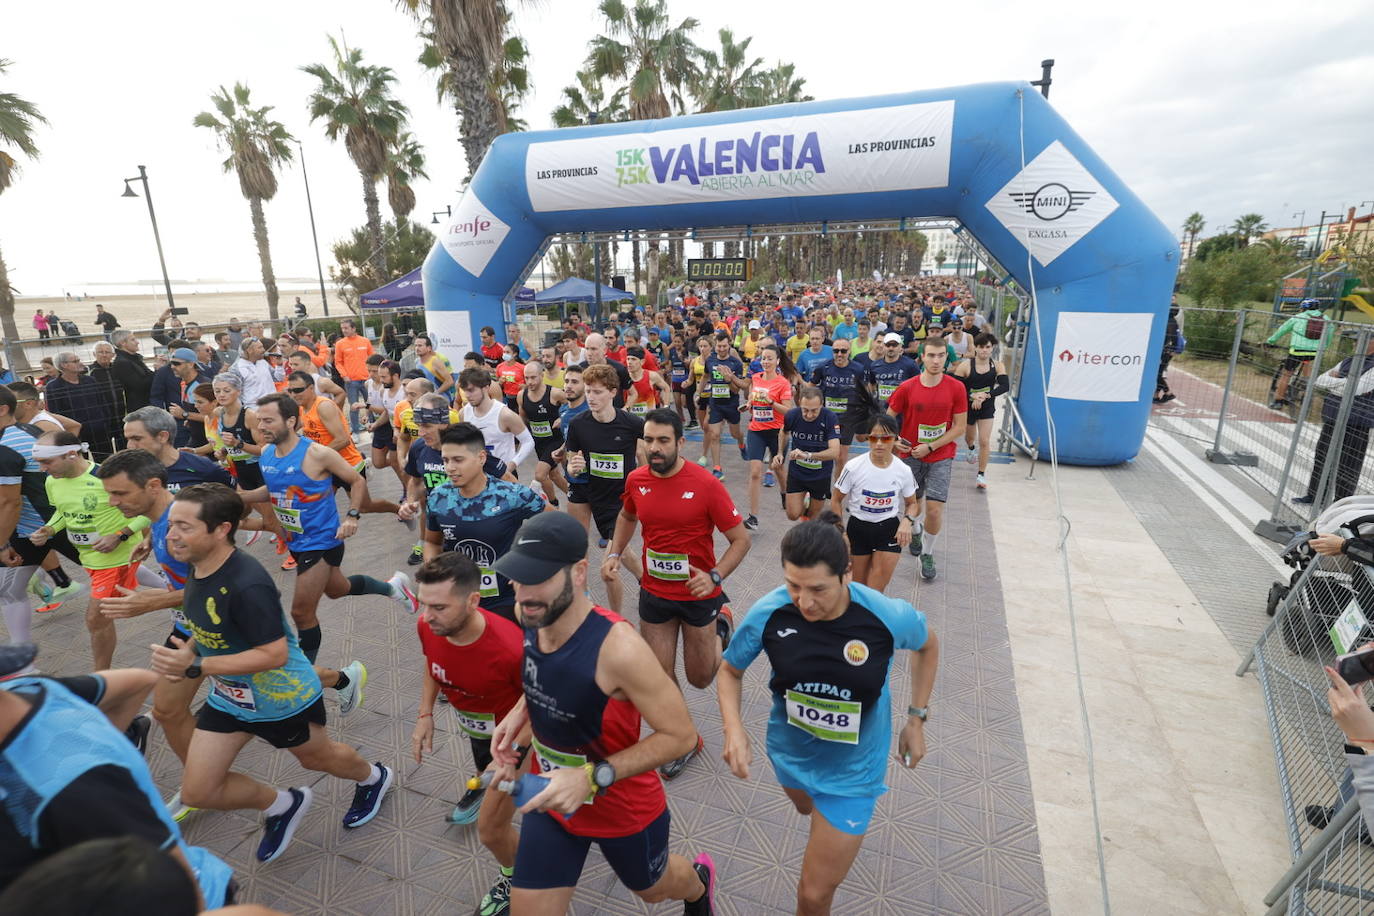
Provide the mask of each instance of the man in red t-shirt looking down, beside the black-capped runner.
[{"label": "man in red t-shirt looking down, beside the black-capped runner", "polygon": [[[492,766],[492,735],[514,709],[523,692],[521,665],[525,658],[523,632],[503,617],[478,607],[482,571],[466,555],[452,551],[429,560],[415,574],[420,615],[416,621],[425,651],[425,684],[419,715],[411,735],[411,751],[419,764],[434,751],[434,700],[440,691],[453,707],[458,726],[473,746],[477,772]],[[528,729],[518,739],[529,746]],[[481,814],[478,814],[481,810]],[[519,835],[511,825],[515,801],[497,791],[495,780],[486,790],[466,790],[449,814],[453,824],[471,824],[482,845],[492,851],[502,873],[488,891],[478,912],[506,912],[489,905],[510,900],[511,875]]]}]

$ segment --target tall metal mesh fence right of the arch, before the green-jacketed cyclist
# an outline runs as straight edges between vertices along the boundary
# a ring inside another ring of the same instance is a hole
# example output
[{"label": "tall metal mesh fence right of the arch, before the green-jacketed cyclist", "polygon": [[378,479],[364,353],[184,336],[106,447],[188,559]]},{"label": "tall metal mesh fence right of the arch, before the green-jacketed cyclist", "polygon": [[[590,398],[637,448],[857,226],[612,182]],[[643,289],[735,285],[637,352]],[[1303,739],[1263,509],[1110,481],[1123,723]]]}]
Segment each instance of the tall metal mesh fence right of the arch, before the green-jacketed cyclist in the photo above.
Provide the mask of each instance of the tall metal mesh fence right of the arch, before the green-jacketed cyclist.
[{"label": "tall metal mesh fence right of the arch, before the green-jacketed cyclist", "polygon": [[[1300,360],[1289,358],[1286,338],[1268,343],[1289,317],[1186,309],[1187,349],[1168,375],[1178,401],[1150,419],[1208,444],[1208,460],[1260,485],[1272,501],[1256,533],[1276,541],[1307,530],[1337,499],[1374,489],[1374,470],[1364,468],[1374,394],[1359,390],[1363,371],[1374,368],[1366,357],[1374,325],[1323,320],[1316,353]],[[1333,372],[1347,358],[1345,372]]]}]

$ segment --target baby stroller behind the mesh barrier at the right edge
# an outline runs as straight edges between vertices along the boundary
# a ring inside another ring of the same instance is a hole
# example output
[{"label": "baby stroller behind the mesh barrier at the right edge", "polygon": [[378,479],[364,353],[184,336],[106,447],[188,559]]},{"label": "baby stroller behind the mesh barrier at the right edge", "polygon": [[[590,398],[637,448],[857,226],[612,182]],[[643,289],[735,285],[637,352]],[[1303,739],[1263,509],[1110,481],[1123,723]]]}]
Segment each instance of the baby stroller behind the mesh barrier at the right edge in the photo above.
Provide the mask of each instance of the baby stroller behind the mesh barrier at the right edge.
[{"label": "baby stroller behind the mesh barrier at the right edge", "polygon": [[1281,628],[1283,644],[1308,658],[1330,652],[1327,633],[1336,618],[1349,606],[1351,599],[1366,618],[1374,619],[1374,575],[1371,575],[1374,570],[1344,553],[1336,556],[1316,553],[1307,542],[1319,531],[1344,537],[1374,537],[1374,496],[1351,496],[1331,503],[1314,519],[1312,530],[1294,534],[1283,548],[1282,559],[1293,567],[1293,574],[1286,582],[1274,582],[1270,586],[1265,611],[1274,617],[1308,566],[1316,564],[1303,592],[1289,607]]}]

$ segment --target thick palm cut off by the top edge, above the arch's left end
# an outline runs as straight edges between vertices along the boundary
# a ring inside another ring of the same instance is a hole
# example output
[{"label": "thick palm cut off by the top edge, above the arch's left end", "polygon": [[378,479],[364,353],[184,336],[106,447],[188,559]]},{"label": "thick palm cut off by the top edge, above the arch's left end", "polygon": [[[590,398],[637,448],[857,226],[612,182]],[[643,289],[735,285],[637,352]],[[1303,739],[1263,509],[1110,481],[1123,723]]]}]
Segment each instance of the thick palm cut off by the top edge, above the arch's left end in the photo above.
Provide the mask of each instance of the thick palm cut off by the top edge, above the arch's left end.
[{"label": "thick palm cut off by the top edge, above the arch's left end", "polygon": [[[510,8],[504,0],[397,1],[422,22],[426,48],[420,63],[442,70],[438,93],[453,103],[469,174],[475,174],[492,140],[508,129],[511,113],[500,84],[493,87],[493,77],[500,80],[500,69],[510,59]],[[528,89],[528,78],[526,73],[521,95]]]}]

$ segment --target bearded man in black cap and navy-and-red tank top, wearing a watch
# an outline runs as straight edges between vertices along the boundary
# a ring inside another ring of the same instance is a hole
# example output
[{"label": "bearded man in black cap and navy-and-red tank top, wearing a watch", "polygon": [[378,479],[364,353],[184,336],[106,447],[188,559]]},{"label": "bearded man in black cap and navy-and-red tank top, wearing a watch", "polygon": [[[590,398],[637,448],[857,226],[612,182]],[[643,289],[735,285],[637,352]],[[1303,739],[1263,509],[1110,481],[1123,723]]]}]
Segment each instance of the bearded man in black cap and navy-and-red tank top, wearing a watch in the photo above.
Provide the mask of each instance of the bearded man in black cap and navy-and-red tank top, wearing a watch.
[{"label": "bearded man in black cap and navy-and-red tank top, wearing a watch", "polygon": [[[525,628],[525,696],[492,736],[497,779],[513,779],[528,724],[550,784],[521,808],[511,911],[566,912],[596,843],[640,900],[713,912],[716,867],[669,854],[668,799],[655,768],[691,750],[697,726],[649,644],[587,595],[587,530],[570,515],[525,522],[496,570],[515,584]],[[640,718],[650,732],[640,737]]]}]

